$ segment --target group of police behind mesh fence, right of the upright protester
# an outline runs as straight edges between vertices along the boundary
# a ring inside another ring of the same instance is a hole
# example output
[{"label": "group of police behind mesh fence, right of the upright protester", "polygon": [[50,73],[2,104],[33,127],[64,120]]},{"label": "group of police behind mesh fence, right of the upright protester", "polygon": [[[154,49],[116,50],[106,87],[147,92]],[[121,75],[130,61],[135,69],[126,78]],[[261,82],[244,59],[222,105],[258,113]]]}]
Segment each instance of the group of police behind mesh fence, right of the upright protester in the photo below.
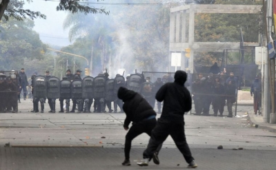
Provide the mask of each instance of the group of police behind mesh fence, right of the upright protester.
[{"label": "group of police behind mesh fence, right of the upright protester", "polygon": [[238,78],[226,75],[193,74],[192,94],[195,114],[209,115],[213,105],[214,116],[222,116],[227,105],[228,117],[233,117],[233,104],[237,99]]}]

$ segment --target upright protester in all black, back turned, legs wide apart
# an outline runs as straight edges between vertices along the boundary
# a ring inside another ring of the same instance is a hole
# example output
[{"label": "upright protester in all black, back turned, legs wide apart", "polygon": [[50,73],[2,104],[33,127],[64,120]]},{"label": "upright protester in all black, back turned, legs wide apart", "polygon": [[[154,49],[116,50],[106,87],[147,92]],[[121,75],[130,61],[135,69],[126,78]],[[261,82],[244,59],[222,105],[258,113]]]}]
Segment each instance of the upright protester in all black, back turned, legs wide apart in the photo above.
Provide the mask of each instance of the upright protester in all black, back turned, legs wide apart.
[{"label": "upright protester in all black, back turned, legs wide apart", "polygon": [[170,135],[188,162],[188,167],[197,167],[184,133],[184,114],[192,108],[190,92],[184,87],[186,79],[186,72],[179,70],[175,73],[175,82],[166,83],[157,92],[155,98],[159,102],[164,101],[164,107],[156,127],[152,130],[148,147],[144,151],[144,160],[137,162],[139,166],[148,166],[157,147]]}]

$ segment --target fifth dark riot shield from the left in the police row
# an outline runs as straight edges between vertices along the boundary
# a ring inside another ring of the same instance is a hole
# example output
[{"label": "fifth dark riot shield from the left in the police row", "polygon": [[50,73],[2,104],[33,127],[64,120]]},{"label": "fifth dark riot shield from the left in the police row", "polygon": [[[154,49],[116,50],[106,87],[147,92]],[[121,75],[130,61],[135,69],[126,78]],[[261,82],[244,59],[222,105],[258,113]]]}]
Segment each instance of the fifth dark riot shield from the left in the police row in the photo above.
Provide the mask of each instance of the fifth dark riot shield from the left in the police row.
[{"label": "fifth dark riot shield from the left in the police row", "polygon": [[93,96],[93,81],[92,76],[86,76],[82,80],[82,98],[83,99],[92,99]]}]

